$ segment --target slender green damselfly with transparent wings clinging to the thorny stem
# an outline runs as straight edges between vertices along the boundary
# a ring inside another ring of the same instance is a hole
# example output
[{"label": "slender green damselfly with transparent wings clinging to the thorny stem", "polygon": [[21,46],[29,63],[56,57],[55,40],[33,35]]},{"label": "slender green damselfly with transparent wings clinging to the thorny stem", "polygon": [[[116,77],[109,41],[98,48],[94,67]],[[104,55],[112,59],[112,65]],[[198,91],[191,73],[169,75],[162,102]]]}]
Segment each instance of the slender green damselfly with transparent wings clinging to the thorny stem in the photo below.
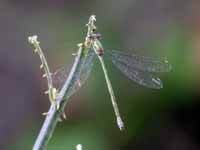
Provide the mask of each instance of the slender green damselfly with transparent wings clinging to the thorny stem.
[{"label": "slender green damselfly with transparent wings clinging to the thorny stem", "polygon": [[[94,16],[93,19],[95,19]],[[171,70],[171,65],[166,60],[139,56],[116,50],[104,50],[100,42],[101,35],[95,33],[94,29],[86,37],[86,41],[88,41],[91,46],[86,55],[84,55],[85,58],[81,62],[82,69],[75,78],[76,84],[71,87],[68,97],[74,94],[85,83],[91,73],[96,58],[98,58],[105,75],[118,126],[120,129],[123,129],[124,124],[120,117],[116,98],[104,63],[104,57],[109,58],[112,63],[130,80],[152,89],[161,89],[163,87],[162,81],[158,77],[154,76],[153,73],[169,72]],[[67,68],[63,67],[57,70],[52,74],[52,78],[55,85],[63,85],[67,79]]]}]

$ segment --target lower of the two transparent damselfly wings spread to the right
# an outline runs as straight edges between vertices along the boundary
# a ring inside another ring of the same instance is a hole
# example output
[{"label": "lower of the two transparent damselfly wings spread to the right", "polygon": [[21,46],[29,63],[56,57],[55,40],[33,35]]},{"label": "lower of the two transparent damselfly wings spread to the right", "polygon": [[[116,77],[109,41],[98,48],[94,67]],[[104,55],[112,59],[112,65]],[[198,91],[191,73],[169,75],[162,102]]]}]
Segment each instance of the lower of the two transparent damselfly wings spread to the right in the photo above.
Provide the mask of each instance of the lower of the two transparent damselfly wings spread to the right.
[{"label": "lower of the two transparent damselfly wings spread to the right", "polygon": [[116,59],[112,59],[112,62],[123,74],[136,83],[153,89],[162,88],[162,81],[159,78],[146,74],[144,71],[136,70]]}]

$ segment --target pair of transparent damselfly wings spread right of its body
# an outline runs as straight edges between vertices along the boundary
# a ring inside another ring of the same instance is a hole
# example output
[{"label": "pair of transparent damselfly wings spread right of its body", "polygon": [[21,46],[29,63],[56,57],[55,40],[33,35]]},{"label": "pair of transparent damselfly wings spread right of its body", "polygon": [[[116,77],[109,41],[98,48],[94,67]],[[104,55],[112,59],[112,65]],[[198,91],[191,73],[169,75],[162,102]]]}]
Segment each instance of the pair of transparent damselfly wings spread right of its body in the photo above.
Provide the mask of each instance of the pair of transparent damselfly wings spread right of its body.
[{"label": "pair of transparent damselfly wings spread right of its body", "polygon": [[129,79],[148,88],[160,89],[162,81],[152,73],[169,72],[171,65],[166,60],[128,54],[120,51],[105,51],[112,63]]}]

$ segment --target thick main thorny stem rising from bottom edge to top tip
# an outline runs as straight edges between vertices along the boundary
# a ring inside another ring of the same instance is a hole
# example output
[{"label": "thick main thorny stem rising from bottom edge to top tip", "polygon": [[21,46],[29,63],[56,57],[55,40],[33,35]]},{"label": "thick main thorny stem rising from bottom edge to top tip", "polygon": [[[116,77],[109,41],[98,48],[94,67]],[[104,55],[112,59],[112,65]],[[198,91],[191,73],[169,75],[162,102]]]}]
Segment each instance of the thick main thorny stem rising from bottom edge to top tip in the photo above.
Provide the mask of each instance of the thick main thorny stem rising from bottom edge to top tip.
[{"label": "thick main thorny stem rising from bottom edge to top tip", "polygon": [[[46,119],[43,123],[40,133],[39,133],[39,135],[35,141],[35,144],[33,146],[33,150],[46,150],[47,144],[54,132],[56,124],[57,124],[58,120],[60,119],[60,115],[62,114],[62,112],[65,108],[65,105],[67,104],[69,97],[71,96],[71,90],[73,89],[74,85],[76,84],[77,79],[80,76],[80,72],[82,69],[81,62],[82,62],[82,59],[85,59],[85,52],[87,52],[92,45],[92,43],[89,40],[89,36],[91,34],[93,34],[93,31],[96,29],[96,27],[94,25],[95,21],[96,21],[95,16],[92,15],[89,18],[89,22],[87,24],[88,32],[86,35],[85,42],[78,45],[79,49],[76,53],[75,60],[74,60],[72,69],[70,71],[70,74],[69,74],[65,84],[63,85],[62,89],[56,95],[56,98],[55,98],[56,105],[54,105],[53,103],[51,104],[51,107],[47,113]],[[34,39],[34,38],[36,38],[36,39]],[[35,40],[36,45],[34,45],[34,46],[35,47],[39,46],[37,37],[34,37],[34,38],[33,39],[29,38],[29,42],[32,42],[31,40]],[[34,43],[32,43],[32,44],[34,44]],[[49,71],[49,73],[50,73],[50,71]],[[55,107],[55,106],[57,106],[57,107]]]}]

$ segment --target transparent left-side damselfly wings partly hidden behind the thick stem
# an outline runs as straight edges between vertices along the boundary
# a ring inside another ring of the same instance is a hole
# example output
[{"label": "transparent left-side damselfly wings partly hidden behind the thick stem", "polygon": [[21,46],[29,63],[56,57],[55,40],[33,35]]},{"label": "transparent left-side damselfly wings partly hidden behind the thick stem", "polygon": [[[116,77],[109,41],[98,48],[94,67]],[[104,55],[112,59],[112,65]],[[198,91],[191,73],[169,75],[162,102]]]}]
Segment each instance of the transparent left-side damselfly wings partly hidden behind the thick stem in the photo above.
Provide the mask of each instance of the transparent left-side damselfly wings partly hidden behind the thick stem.
[{"label": "transparent left-side damselfly wings partly hidden behind the thick stem", "polygon": [[[94,51],[91,50],[91,52],[88,54],[86,59],[82,60],[82,69],[80,72],[80,76],[76,78],[76,84],[70,88],[69,96],[73,95],[88,79],[91,70],[93,68],[94,60],[95,60],[96,54]],[[64,82],[66,81],[68,77],[68,69],[67,67],[62,67],[58,69],[55,73],[52,74],[53,79],[53,85],[60,90],[63,86]]]}]

